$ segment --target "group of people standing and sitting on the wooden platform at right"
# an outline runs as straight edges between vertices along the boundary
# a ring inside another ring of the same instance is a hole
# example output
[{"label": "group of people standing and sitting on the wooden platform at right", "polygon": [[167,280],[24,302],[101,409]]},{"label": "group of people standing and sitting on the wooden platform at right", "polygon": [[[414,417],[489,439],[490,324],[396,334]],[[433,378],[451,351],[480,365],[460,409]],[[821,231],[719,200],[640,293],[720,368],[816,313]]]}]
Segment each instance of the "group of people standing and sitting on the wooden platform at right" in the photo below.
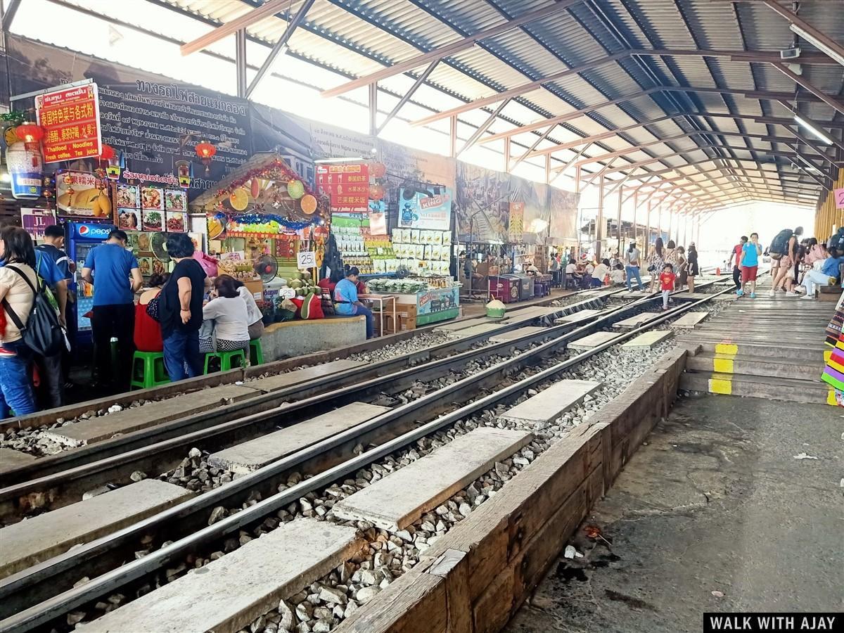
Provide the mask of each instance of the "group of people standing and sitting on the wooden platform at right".
[{"label": "group of people standing and sitting on the wooden platform at right", "polygon": [[771,290],[776,296],[814,300],[821,286],[841,283],[841,264],[844,263],[844,230],[838,230],[826,242],[803,238],[803,227],[783,229],[774,236],[764,251],[759,235],[742,235],[733,246],[728,265],[733,266],[736,295],[756,296],[756,278],[760,258],[771,258]]}]

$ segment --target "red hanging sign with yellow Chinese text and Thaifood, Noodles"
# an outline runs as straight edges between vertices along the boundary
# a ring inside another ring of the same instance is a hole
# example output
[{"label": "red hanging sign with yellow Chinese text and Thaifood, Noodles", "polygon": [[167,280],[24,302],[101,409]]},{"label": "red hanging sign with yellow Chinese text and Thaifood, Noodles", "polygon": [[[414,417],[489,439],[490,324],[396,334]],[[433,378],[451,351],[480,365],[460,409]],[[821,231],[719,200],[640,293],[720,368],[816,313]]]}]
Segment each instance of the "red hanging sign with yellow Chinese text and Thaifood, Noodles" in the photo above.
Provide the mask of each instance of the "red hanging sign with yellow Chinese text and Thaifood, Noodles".
[{"label": "red hanging sign with yellow Chinese text and Thaifood, Noodles", "polygon": [[44,128],[45,163],[100,155],[97,84],[38,95],[35,97],[35,114],[38,124]]}]

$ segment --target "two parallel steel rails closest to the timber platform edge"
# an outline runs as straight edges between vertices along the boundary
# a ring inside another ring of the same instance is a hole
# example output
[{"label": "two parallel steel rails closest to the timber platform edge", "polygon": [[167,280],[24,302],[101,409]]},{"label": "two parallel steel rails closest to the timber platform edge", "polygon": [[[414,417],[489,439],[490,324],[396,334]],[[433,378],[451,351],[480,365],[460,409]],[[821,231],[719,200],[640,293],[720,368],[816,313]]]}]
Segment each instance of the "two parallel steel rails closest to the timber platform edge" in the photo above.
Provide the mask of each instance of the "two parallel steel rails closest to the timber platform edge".
[{"label": "two parallel steel rails closest to the timber platform edge", "polygon": [[[659,323],[666,322],[668,319],[682,314],[684,311],[688,311],[695,306],[702,305],[706,301],[711,300],[714,296],[721,295],[729,291],[732,291],[732,289],[724,289],[715,295],[709,295],[701,300],[677,306],[671,311],[665,312],[663,315],[650,320],[646,324],[643,324],[630,332],[620,333],[619,336],[606,344],[587,350],[582,354],[577,354],[568,360],[539,371],[533,376],[527,376],[511,386],[499,389],[489,395],[475,400],[472,403],[465,404],[450,413],[441,415],[432,422],[416,426],[413,430],[410,430],[401,436],[392,438],[391,440],[376,446],[370,451],[362,453],[358,457],[353,457],[342,463],[333,465],[331,468],[327,468],[321,473],[317,473],[311,479],[306,479],[305,481],[300,482],[300,484],[292,486],[288,490],[276,493],[265,500],[259,501],[255,506],[249,507],[244,511],[237,512],[235,515],[226,517],[213,525],[203,527],[197,532],[181,538],[176,543],[156,550],[139,560],[132,560],[126,565],[106,571],[80,587],[69,588],[59,595],[53,595],[51,598],[46,598],[41,603],[24,608],[18,613],[0,621],[0,633],[11,630],[30,630],[35,626],[45,624],[51,619],[67,613],[69,610],[74,609],[80,604],[99,598],[105,593],[112,592],[119,587],[123,587],[128,582],[132,582],[142,576],[157,571],[170,561],[176,560],[177,556],[181,556],[188,551],[197,549],[208,539],[221,538],[225,537],[226,534],[234,533],[241,527],[257,522],[263,517],[266,517],[269,513],[278,511],[282,507],[289,505],[289,503],[298,500],[301,496],[306,495],[308,492],[331,484],[335,479],[338,479],[344,474],[352,473],[356,469],[364,467],[373,460],[384,457],[398,448],[406,446],[412,441],[416,441],[420,437],[429,435],[431,432],[441,429],[446,425],[451,425],[468,414],[473,414],[482,408],[487,408],[491,404],[497,403],[503,398],[508,398],[512,394],[536,384],[538,381],[542,381],[549,376],[554,376],[561,371],[565,371],[571,366],[590,358],[594,354],[598,354],[604,349],[609,349],[609,347],[614,344],[618,344],[627,338],[638,335],[639,333],[644,332]],[[637,300],[634,303],[643,306],[648,302],[657,299],[658,295],[653,294],[643,298],[642,300]],[[609,315],[599,319],[601,322],[609,322],[609,320]],[[583,334],[591,331],[593,328],[594,324],[584,325],[577,328],[565,338],[579,338]],[[235,492],[235,489],[239,490],[241,493],[248,490],[255,490],[257,484],[261,484],[262,482],[267,482],[274,477],[278,477],[279,475],[288,472],[291,468],[300,466],[308,459],[320,457],[327,452],[336,451],[341,446],[359,441],[360,436],[364,435],[366,431],[378,430],[383,425],[387,425],[395,419],[398,419],[401,414],[414,414],[415,409],[423,408],[425,404],[430,403],[432,397],[447,398],[448,395],[454,392],[471,389],[472,387],[479,387],[486,379],[492,378],[498,380],[500,375],[506,375],[507,371],[514,370],[517,365],[522,365],[528,358],[542,358],[544,354],[552,352],[558,346],[557,340],[541,344],[533,350],[502,361],[501,363],[493,365],[484,371],[480,371],[474,376],[468,376],[467,378],[457,381],[450,386],[443,387],[441,390],[438,390],[436,394],[430,394],[429,396],[419,398],[413,403],[408,403],[402,407],[394,409],[391,412],[382,414],[381,416],[378,416],[378,418],[364,423],[364,425],[355,427],[355,429],[344,431],[343,433],[338,434],[338,436],[317,442],[300,452],[284,457],[278,462],[261,468],[255,473],[236,479],[230,484],[226,484],[219,489],[209,491],[205,495],[201,495],[196,499],[182,504],[181,506],[176,506],[168,511],[164,511],[156,517],[145,519],[143,522],[124,528],[117,533],[97,539],[89,544],[82,545],[64,555],[57,556],[52,560],[41,563],[41,565],[36,565],[29,570],[19,572],[14,576],[9,576],[0,583],[0,598],[2,598],[2,600],[0,600],[0,604],[11,605],[12,603],[15,603],[16,601],[13,599],[15,593],[24,592],[27,598],[35,598],[35,594],[41,594],[44,592],[46,585],[49,585],[51,588],[62,586],[62,584],[67,586],[67,582],[73,582],[75,579],[78,579],[78,576],[81,573],[78,571],[78,563],[89,562],[95,555],[101,554],[104,550],[109,549],[109,545],[114,544],[117,539],[127,538],[128,535],[132,534],[140,536],[143,533],[148,533],[149,528],[154,527],[155,523],[160,524],[162,522],[161,517],[165,515],[178,520],[179,517],[185,516],[188,507],[190,507],[192,511],[197,511],[197,506],[203,506],[206,509],[210,509],[213,506],[220,505],[220,502],[222,501],[221,497],[225,496],[230,499]],[[403,409],[403,411],[400,411],[401,409]],[[215,493],[217,494],[215,495]],[[211,497],[215,498],[212,499]],[[64,582],[57,582],[57,575],[64,572],[65,576],[68,576],[69,571],[73,571],[73,577],[65,578]],[[35,591],[39,588],[40,591]],[[38,599],[40,599],[40,595]],[[19,600],[17,602],[19,602]],[[3,608],[3,610],[6,611],[7,609]]]}]

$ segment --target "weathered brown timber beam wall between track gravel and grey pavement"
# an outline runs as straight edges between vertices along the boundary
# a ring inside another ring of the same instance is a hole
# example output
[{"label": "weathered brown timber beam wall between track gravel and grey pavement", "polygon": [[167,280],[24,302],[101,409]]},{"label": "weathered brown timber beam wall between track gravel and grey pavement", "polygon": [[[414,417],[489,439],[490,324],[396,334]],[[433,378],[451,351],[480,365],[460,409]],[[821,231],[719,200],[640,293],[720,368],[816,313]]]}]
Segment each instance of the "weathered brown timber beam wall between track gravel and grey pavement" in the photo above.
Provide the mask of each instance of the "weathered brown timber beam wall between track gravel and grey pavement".
[{"label": "weathered brown timber beam wall between track gravel and grey pavement", "polygon": [[500,630],[668,414],[690,353],[681,346],[664,354],[336,630]]}]

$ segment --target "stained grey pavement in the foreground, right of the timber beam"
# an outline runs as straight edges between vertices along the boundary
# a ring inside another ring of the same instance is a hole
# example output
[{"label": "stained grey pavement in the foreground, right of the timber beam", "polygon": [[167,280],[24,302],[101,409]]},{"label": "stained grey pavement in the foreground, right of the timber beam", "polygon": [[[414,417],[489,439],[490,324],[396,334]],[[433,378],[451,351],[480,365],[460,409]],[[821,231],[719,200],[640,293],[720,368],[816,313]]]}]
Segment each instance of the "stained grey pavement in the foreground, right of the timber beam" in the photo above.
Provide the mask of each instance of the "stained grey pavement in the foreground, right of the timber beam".
[{"label": "stained grey pavement in the foreground, right of the timber beam", "polygon": [[585,557],[555,561],[506,631],[698,633],[704,611],[841,611],[842,413],[681,401],[584,523],[612,549],[578,530]]}]

